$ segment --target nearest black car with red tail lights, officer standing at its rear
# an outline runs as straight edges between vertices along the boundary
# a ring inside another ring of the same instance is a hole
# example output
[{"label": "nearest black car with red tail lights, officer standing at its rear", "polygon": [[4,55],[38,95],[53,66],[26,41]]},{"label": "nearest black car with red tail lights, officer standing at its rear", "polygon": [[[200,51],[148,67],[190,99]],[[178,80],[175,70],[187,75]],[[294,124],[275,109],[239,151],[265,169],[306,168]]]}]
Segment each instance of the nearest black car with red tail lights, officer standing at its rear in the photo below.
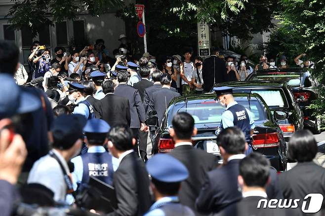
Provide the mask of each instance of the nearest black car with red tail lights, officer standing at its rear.
[{"label": "nearest black car with red tail lights, officer standing at its rear", "polygon": [[[193,145],[217,155],[222,160],[216,138],[220,132],[221,115],[225,108],[222,108],[220,103],[216,103],[215,97],[214,93],[207,93],[173,99],[165,112],[162,125],[156,130],[153,153],[169,152],[174,148],[174,142],[168,129],[172,127],[173,116],[177,112],[185,111],[193,116],[195,127],[198,129],[198,134],[192,137]],[[272,166],[278,171],[285,171],[286,145],[284,136],[266,103],[261,96],[253,93],[234,94],[234,97],[239,104],[249,109],[254,115],[253,150],[268,157]],[[284,118],[285,116],[276,112],[276,117]],[[155,123],[146,123],[155,125]]]}]

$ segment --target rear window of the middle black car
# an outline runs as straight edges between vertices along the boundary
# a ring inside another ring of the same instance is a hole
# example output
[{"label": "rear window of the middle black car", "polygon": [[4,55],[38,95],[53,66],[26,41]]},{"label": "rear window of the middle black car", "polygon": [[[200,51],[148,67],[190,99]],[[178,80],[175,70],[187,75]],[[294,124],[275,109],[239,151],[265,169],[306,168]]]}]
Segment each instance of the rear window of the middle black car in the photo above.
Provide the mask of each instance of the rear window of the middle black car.
[{"label": "rear window of the middle black car", "polygon": [[234,89],[235,93],[257,93],[259,94],[267,106],[270,108],[288,108],[288,104],[281,88],[247,88],[247,89]]}]

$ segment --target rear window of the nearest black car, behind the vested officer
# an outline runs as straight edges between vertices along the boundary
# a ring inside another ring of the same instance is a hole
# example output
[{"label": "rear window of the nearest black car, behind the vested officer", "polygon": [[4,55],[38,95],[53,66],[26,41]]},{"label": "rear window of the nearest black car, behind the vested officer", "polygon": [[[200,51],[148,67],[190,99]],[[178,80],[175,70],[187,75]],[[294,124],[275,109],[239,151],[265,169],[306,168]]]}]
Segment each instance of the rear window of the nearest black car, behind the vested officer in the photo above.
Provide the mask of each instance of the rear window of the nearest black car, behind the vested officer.
[{"label": "rear window of the nearest black car, behind the vested officer", "polygon": [[[254,121],[266,120],[265,110],[256,99],[250,100],[249,102],[246,97],[235,98],[235,100],[252,112]],[[168,124],[171,126],[172,117],[177,112],[188,112],[194,118],[197,128],[206,128],[211,124],[219,126],[224,110],[225,108],[221,107],[220,103],[216,103],[213,99],[190,101],[187,105],[183,102],[176,103],[168,111]]]}]

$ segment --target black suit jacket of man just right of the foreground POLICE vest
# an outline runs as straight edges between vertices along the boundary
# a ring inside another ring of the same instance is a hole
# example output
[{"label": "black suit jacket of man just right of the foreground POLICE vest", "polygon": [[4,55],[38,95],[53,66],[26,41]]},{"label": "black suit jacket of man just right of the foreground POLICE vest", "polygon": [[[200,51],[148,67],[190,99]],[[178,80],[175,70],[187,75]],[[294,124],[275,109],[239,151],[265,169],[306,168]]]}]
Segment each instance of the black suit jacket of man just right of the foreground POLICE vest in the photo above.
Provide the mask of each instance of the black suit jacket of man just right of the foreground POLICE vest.
[{"label": "black suit jacket of man just right of the foreground POLICE vest", "polygon": [[114,173],[118,209],[108,216],[143,216],[152,204],[150,181],[144,162],[134,153],[127,154]]}]

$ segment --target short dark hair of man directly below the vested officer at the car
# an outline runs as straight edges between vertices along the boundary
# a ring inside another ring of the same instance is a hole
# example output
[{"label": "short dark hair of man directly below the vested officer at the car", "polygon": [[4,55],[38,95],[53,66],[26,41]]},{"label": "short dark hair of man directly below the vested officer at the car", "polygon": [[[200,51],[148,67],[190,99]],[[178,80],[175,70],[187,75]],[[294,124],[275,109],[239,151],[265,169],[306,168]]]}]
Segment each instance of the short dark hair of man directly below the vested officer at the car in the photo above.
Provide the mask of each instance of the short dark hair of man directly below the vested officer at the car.
[{"label": "short dark hair of man directly below the vested officer at the car", "polygon": [[245,151],[245,135],[238,127],[228,127],[220,132],[217,144],[228,154],[243,154]]}]

